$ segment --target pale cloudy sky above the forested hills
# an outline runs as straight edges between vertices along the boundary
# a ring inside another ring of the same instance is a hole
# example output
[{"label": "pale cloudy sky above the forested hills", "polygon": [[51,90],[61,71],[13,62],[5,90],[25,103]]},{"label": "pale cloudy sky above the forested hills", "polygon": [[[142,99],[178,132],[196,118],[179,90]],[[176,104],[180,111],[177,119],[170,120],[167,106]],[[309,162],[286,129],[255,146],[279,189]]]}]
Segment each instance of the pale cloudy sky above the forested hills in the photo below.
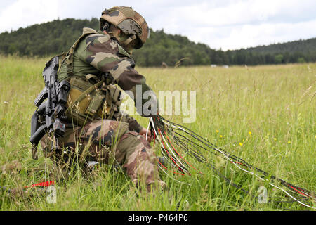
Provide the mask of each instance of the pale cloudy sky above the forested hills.
[{"label": "pale cloudy sky above the forested hills", "polygon": [[0,32],[132,6],[153,30],[233,50],[316,37],[315,0],[0,0]]}]

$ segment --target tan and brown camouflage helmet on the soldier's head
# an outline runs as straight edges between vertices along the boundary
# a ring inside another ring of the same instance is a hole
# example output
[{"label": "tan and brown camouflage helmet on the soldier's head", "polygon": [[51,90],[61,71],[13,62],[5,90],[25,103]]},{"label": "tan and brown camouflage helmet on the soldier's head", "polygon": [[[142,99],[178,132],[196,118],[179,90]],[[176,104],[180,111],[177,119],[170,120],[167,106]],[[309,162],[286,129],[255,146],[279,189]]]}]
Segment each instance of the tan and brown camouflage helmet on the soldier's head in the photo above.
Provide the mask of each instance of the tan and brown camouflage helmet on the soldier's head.
[{"label": "tan and brown camouflage helmet on the soldier's head", "polygon": [[132,39],[138,39],[136,49],[140,49],[150,36],[145,19],[131,7],[115,6],[105,9],[100,17],[100,30],[103,30],[106,22],[119,27],[125,34],[131,34]]}]

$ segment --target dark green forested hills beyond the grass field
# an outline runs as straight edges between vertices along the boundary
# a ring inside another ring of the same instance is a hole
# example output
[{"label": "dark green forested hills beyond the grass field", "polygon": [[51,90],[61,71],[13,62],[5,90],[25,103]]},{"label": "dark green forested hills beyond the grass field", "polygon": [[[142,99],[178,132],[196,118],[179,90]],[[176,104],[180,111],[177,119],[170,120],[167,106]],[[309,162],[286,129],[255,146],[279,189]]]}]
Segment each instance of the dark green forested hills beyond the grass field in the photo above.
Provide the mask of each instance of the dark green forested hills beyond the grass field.
[{"label": "dark green forested hills beyond the grass field", "polygon": [[[52,56],[66,52],[81,35],[83,27],[98,30],[98,19],[54,20],[0,34],[0,53],[20,56]],[[151,30],[142,49],[133,52],[140,66],[164,65],[264,65],[316,62],[316,38],[270,44],[249,49],[223,51],[195,43],[178,34]]]}]

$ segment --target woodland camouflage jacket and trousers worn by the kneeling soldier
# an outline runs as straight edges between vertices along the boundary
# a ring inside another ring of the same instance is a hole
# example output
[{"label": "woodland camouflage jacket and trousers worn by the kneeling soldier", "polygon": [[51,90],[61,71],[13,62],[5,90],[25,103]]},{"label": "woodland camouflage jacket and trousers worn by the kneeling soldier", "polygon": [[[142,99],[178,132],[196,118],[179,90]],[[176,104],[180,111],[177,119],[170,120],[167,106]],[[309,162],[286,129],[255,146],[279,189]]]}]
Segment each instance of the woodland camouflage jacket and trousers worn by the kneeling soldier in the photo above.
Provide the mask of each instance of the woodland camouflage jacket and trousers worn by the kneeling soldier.
[{"label": "woodland camouflage jacket and trousers worn by the kneeling soldier", "polygon": [[[134,66],[129,53],[115,39],[103,32],[84,28],[82,36],[62,61],[58,79],[69,81],[75,77],[85,80],[88,74],[101,77],[107,73],[110,74],[111,84],[117,84],[124,91],[132,91],[136,102],[136,85],[141,85],[143,91],[151,89]],[[105,120],[97,115],[82,126],[76,126],[76,122],[68,117],[66,127],[65,136],[58,139],[62,152],[51,157],[63,175],[67,176],[67,169],[78,153],[79,165],[83,168],[88,167],[88,161],[110,163],[115,159],[126,169],[134,184],[145,183],[148,191],[152,185],[164,186],[159,179],[157,160],[150,143],[139,134],[143,127],[133,117],[119,111],[119,107],[111,118]],[[44,136],[42,148],[45,149],[50,140]]]}]

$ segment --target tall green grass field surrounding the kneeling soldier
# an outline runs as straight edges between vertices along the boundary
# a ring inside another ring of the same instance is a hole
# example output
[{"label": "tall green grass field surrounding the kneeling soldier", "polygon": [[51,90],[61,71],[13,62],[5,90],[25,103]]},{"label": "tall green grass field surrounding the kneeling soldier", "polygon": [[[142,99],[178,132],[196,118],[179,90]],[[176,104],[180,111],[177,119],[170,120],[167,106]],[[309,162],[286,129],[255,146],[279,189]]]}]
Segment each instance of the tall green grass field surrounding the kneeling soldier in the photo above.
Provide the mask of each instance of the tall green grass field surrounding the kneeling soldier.
[{"label": "tall green grass field surrounding the kneeling soldier", "polygon": [[[44,86],[48,58],[0,56],[0,186],[29,186],[48,179],[51,162],[30,153],[33,105]],[[256,67],[137,68],[154,91],[197,91],[197,120],[186,127],[291,184],[316,191],[316,64]],[[166,117],[182,123],[180,116]],[[137,116],[145,127],[147,119]],[[164,176],[169,192],[140,193],[123,171],[104,165],[89,179],[77,172],[56,184],[57,202],[43,195],[0,192],[0,210],[310,210],[275,203],[274,188],[229,165],[220,165],[243,188],[268,189],[266,204],[238,191],[196,162],[203,176]],[[310,203],[312,204],[312,203]],[[314,205],[315,207],[315,205]]]}]

